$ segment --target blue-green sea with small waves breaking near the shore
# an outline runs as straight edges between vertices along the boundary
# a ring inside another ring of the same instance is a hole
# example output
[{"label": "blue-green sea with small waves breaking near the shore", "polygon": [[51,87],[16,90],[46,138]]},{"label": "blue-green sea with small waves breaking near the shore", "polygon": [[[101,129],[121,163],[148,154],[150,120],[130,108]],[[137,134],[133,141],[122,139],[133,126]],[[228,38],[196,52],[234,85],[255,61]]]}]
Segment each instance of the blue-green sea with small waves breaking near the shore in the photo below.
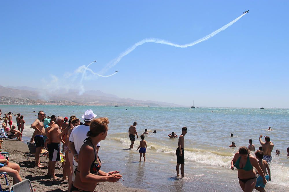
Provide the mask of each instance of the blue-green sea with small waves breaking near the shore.
[{"label": "blue-green sea with small waves breaking near the shore", "polygon": [[[0,105],[2,113],[21,113],[27,124],[24,136],[31,136],[30,124],[35,120],[32,111],[43,110],[47,115],[78,118],[86,109],[92,109],[98,117],[110,120],[107,139],[101,142],[99,157],[104,171],[123,170],[125,186],[149,191],[241,191],[237,170],[230,169],[230,162],[240,146],[248,146],[253,139],[256,149],[260,146],[259,135],[270,136],[275,147],[271,168],[271,182],[267,191],[288,191],[289,158],[288,142],[289,109],[257,108],[189,108],[189,107],[88,107],[88,106],[27,106]],[[74,111],[74,112],[73,112]],[[212,112],[213,111],[213,112]],[[3,115],[2,115],[3,116]],[[15,121],[14,117],[14,121]],[[138,122],[140,136],[149,130],[146,162],[138,162],[136,148],[130,145],[128,128]],[[172,131],[181,134],[181,127],[188,127],[185,136],[185,176],[176,180],[177,139],[169,139]],[[273,131],[268,131],[268,127]],[[157,130],[153,134],[153,130]],[[233,133],[234,136],[230,137]],[[264,138],[264,137],[263,137]],[[236,148],[228,146],[234,141]],[[264,139],[263,139],[264,141]],[[275,156],[279,149],[280,156]]]}]

